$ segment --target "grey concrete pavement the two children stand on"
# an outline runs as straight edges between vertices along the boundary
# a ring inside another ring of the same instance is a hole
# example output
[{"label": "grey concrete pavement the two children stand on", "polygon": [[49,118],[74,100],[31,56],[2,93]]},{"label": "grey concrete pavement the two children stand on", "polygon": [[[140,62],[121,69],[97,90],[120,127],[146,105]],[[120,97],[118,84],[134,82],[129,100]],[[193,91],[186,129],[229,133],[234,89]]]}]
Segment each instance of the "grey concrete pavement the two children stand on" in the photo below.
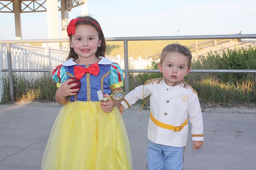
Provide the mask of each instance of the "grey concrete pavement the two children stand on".
[{"label": "grey concrete pavement the two children stand on", "polygon": [[[57,103],[0,105],[0,170],[39,170]],[[123,118],[132,149],[133,169],[146,169],[149,110],[132,107]],[[256,169],[256,110],[209,108],[203,110],[204,145],[184,153],[184,170]],[[191,124],[189,124],[191,128]],[[189,130],[190,133],[191,130]]]}]

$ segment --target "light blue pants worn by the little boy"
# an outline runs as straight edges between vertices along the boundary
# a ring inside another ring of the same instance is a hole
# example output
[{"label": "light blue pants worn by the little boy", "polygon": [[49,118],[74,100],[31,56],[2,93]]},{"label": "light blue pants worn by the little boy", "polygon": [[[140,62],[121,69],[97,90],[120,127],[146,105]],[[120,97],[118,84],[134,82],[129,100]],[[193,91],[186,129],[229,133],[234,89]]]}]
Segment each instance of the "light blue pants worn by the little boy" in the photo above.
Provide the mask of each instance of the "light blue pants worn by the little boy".
[{"label": "light blue pants worn by the little boy", "polygon": [[155,144],[147,146],[147,170],[182,170],[184,147]]}]

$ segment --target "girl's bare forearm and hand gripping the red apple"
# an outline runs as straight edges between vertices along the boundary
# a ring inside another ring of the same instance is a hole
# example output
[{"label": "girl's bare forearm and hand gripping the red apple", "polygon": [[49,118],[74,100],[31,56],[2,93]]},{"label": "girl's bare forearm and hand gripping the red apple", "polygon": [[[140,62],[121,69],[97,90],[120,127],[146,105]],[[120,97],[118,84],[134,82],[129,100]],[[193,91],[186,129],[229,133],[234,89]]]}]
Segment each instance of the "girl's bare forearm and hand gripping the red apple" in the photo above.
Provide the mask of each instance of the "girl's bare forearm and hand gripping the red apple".
[{"label": "girl's bare forearm and hand gripping the red apple", "polygon": [[56,91],[55,99],[61,105],[65,105],[69,101],[69,96],[73,96],[77,94],[79,89],[70,89],[76,86],[76,83],[68,85],[69,82],[73,81],[72,79],[68,79],[61,83],[60,87]]}]

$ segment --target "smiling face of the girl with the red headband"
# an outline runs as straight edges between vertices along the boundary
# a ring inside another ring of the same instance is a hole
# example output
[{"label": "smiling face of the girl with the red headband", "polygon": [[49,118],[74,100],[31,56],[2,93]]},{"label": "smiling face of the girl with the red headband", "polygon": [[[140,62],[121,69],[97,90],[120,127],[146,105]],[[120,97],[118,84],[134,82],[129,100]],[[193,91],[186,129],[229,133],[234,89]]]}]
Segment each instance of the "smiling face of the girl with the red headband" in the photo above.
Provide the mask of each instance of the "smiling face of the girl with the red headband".
[{"label": "smiling face of the girl with the red headband", "polygon": [[76,26],[75,35],[72,35],[70,44],[77,53],[79,60],[89,62],[97,59],[95,53],[101,40],[94,26],[80,24]]}]

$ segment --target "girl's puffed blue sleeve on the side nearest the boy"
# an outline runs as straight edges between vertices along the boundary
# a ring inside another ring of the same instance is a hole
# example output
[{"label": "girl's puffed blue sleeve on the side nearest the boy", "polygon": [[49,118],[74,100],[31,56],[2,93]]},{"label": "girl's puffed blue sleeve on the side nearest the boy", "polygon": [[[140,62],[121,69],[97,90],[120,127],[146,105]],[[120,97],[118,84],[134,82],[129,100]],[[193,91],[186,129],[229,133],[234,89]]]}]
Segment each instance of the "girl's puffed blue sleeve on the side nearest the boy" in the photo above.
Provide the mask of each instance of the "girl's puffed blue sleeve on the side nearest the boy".
[{"label": "girl's puffed blue sleeve on the side nearest the boy", "polygon": [[124,86],[123,70],[117,63],[112,63],[110,68],[109,87],[111,90]]}]

